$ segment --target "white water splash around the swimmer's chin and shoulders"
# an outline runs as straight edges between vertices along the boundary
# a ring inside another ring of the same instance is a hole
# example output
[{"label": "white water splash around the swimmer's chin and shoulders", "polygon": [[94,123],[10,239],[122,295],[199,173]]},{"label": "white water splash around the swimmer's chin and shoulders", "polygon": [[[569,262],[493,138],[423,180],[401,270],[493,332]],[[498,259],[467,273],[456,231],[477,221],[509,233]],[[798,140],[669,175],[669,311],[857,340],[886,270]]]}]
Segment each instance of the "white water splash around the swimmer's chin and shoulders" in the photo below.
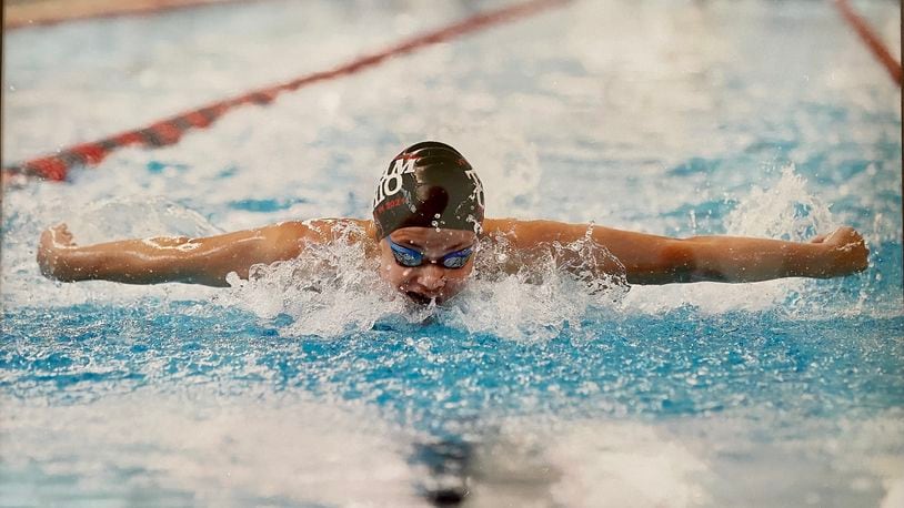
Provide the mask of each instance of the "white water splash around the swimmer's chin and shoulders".
[{"label": "white water splash around the swimmer's chin and shoulders", "polygon": [[[614,308],[627,291],[623,275],[599,274],[611,254],[589,236],[532,253],[516,273],[499,260],[514,254],[504,241],[482,242],[475,275],[461,294],[442,306],[421,306],[379,276],[356,226],[329,245],[307,244],[295,260],[252,266],[249,280],[228,277],[233,287],[221,303],[248,308],[263,318],[291,317],[284,335],[338,337],[378,323],[413,324],[433,319],[472,334],[518,341],[548,341],[564,328],[580,329],[596,309]],[[569,256],[563,253],[570,254]],[[559,258],[567,258],[566,263]]]}]

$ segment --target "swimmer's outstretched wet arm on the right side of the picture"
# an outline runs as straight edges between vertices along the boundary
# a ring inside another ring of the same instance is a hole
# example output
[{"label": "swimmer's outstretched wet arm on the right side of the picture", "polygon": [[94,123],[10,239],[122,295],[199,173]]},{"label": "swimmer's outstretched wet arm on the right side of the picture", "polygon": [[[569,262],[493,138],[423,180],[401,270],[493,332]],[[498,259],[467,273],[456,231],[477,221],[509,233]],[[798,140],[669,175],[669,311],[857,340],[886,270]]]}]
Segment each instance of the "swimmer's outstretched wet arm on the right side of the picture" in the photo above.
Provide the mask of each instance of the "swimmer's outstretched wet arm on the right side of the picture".
[{"label": "swimmer's outstretched wet arm on the right side of the picture", "polygon": [[[508,231],[506,236],[518,248],[554,241],[574,242],[589,231],[585,224],[551,221],[488,220],[488,224],[490,228]],[[617,260],[617,263],[601,260],[600,270],[606,273],[623,270],[631,284],[827,278],[861,272],[867,265],[868,251],[863,237],[851,227],[840,227],[810,243],[739,236],[672,238],[602,226],[590,231],[594,242]]]}]

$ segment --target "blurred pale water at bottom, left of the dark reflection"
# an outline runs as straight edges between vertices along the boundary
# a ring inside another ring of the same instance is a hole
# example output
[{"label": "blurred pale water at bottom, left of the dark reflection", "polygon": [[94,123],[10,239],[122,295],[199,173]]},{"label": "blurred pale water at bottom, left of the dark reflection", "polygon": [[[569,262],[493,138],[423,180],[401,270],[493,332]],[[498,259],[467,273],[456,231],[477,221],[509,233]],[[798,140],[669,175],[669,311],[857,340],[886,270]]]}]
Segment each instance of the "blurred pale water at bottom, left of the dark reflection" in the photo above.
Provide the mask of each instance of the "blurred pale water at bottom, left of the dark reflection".
[{"label": "blurred pale water at bottom, left of the dark reflection", "polygon": [[[78,491],[122,498],[162,489],[211,506],[421,504],[412,485],[423,471],[408,464],[410,437],[372,409],[293,397],[185,396],[140,390],[50,407],[3,397],[2,461],[74,477]],[[42,489],[42,479],[33,481]]]}]

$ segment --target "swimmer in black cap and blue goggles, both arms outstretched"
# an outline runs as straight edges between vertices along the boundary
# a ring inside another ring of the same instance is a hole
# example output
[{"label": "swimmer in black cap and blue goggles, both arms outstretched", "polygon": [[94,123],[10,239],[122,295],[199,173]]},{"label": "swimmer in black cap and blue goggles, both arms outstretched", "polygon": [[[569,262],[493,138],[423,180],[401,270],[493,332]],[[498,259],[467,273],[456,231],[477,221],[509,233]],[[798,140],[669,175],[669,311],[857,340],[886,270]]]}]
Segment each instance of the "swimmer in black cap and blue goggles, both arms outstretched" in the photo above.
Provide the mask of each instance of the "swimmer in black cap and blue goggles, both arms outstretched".
[{"label": "swimmer in black cap and blue goggles, both arms outstretched", "polygon": [[597,250],[600,258],[591,264],[597,275],[621,274],[630,284],[826,278],[867,265],[863,237],[851,227],[810,243],[733,236],[681,240],[586,224],[484,219],[483,203],[480,179],[461,153],[426,141],[390,162],[378,185],[372,221],[322,219],[204,238],[157,237],[87,246],[78,246],[61,224],[41,235],[38,264],[47,277],[63,282],[228,286],[231,272],[248,278],[254,264],[292,260],[305,245],[351,234],[351,241],[364,244],[366,256],[380,260],[382,278],[420,303],[442,303],[464,287],[481,238],[508,244],[512,255],[501,268],[515,273],[535,262],[544,248],[554,252],[565,270],[582,266],[576,252],[550,246],[589,237],[611,254]]}]

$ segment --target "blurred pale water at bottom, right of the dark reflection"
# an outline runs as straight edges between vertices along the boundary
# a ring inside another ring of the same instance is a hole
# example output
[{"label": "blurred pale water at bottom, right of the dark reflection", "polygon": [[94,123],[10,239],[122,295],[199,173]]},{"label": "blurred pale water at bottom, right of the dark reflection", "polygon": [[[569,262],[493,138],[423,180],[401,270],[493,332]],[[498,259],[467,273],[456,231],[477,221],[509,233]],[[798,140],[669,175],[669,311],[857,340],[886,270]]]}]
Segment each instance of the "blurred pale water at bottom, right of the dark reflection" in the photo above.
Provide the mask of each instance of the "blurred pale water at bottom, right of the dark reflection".
[{"label": "blurred pale water at bottom, right of the dark reflection", "polygon": [[[795,419],[774,413],[664,421],[502,418],[468,465],[470,506],[898,506],[900,410]],[[774,434],[761,443],[764,424]]]}]

